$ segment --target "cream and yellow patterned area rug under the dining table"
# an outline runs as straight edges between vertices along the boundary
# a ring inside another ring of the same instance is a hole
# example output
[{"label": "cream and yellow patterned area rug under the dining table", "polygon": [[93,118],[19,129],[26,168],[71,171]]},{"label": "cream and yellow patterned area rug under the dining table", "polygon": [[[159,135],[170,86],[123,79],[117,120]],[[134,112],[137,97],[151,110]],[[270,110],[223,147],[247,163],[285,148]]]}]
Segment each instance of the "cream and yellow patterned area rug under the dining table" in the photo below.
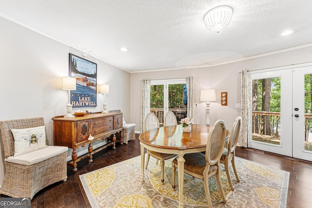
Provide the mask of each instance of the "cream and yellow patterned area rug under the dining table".
[{"label": "cream and yellow patterned area rug under the dining table", "polygon": [[[146,158],[146,157],[145,157]],[[273,169],[249,160],[235,158],[240,183],[231,167],[234,191],[222,168],[222,185],[227,203],[222,202],[216,178],[209,180],[214,208],[285,208],[289,172]],[[166,160],[164,184],[160,166],[151,157],[141,182],[140,156],[80,175],[92,208],[178,208],[178,181],[171,186],[171,161]],[[183,204],[185,208],[207,208],[202,180],[184,174]]]}]

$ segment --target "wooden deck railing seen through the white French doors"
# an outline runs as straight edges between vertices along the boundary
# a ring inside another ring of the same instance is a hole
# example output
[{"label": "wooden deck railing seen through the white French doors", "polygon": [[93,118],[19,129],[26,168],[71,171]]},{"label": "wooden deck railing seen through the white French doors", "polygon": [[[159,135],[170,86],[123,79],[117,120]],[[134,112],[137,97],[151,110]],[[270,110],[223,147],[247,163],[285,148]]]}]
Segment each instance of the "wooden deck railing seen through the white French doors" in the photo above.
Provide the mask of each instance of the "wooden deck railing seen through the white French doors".
[{"label": "wooden deck railing seen through the white French doors", "polygon": [[[262,119],[263,116],[270,116],[270,134],[279,137],[279,127],[280,127],[280,113],[279,112],[264,112],[264,111],[253,111],[253,133],[255,133],[255,125],[256,125],[256,118],[257,118],[257,126],[258,126],[258,133],[261,134],[261,127],[266,126],[267,119]],[[260,119],[259,119],[260,118]],[[309,120],[312,119],[312,113],[305,113],[305,137],[306,141],[309,138]],[[310,120],[311,121],[311,120]],[[262,123],[261,123],[262,122]],[[267,135],[266,128],[263,128],[263,134]]]}]

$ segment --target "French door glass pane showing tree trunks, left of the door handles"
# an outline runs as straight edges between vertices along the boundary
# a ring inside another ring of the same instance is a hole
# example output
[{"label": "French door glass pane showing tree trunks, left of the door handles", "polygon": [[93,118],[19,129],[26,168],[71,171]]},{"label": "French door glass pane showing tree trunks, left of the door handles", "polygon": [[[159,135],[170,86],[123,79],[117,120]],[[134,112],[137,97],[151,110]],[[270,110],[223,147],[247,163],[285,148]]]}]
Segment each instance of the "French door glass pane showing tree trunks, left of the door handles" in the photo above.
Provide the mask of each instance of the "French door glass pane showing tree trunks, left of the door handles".
[{"label": "French door glass pane showing tree trunks, left of the door handles", "polygon": [[280,145],[280,77],[253,80],[253,141]]}]

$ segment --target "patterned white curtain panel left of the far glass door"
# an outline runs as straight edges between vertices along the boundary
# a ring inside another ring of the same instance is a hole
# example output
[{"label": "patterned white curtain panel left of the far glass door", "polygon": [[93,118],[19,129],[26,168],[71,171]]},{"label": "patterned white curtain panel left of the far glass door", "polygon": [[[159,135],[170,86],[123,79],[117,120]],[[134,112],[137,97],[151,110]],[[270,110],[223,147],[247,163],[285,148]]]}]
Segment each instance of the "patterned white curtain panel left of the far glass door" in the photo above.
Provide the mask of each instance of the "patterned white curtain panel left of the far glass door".
[{"label": "patterned white curtain panel left of the far glass door", "polygon": [[150,95],[151,94],[151,80],[141,80],[141,132],[143,132],[143,121],[147,113],[150,113]]}]

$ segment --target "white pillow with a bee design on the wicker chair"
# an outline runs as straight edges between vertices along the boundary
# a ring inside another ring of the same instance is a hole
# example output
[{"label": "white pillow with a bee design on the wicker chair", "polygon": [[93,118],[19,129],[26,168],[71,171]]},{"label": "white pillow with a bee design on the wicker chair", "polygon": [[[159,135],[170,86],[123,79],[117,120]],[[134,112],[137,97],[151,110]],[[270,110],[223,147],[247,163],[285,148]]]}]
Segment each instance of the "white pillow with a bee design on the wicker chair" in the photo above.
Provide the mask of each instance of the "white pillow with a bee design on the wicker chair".
[{"label": "white pillow with a bee design on the wicker chair", "polygon": [[11,129],[14,137],[14,156],[45,148],[44,126]]}]

